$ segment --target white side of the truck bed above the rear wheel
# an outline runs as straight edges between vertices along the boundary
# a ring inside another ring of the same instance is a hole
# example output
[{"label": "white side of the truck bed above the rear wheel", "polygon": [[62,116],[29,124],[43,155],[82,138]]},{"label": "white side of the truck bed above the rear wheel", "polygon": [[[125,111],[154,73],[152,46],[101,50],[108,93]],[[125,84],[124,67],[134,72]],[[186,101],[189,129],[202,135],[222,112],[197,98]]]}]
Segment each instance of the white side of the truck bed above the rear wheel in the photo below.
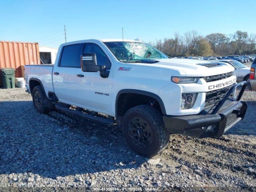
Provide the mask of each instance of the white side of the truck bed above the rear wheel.
[{"label": "white side of the truck bed above the rear wheel", "polygon": [[[25,80],[28,84],[31,78],[40,80],[44,87],[46,95],[48,92],[53,92],[52,85],[52,69],[53,64],[40,64],[40,65],[25,65]],[[29,87],[29,84],[28,84]]]}]

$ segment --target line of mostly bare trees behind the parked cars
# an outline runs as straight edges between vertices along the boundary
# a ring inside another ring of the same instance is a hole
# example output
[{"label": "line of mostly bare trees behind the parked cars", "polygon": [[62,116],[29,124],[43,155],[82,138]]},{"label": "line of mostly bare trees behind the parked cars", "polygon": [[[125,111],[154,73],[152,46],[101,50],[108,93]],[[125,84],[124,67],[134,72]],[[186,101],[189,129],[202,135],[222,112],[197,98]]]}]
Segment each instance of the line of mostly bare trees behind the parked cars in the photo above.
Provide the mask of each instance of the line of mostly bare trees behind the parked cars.
[{"label": "line of mostly bare trees behind the parked cars", "polygon": [[174,38],[164,38],[150,42],[168,56],[221,56],[229,54],[252,54],[256,52],[256,34],[237,31],[235,34],[212,33],[205,38],[196,31],[188,31],[183,36],[177,32]]}]

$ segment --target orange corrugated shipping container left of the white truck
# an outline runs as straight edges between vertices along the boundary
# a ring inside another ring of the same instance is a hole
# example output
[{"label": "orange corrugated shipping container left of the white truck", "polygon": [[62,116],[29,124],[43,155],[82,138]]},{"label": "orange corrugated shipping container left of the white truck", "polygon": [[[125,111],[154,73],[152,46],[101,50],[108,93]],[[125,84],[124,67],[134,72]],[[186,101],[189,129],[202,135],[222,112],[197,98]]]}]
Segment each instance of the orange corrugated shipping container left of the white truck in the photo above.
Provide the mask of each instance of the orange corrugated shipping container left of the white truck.
[{"label": "orange corrugated shipping container left of the white truck", "polygon": [[22,66],[35,64],[40,64],[38,43],[0,41],[0,68],[14,68],[15,77],[22,77]]}]

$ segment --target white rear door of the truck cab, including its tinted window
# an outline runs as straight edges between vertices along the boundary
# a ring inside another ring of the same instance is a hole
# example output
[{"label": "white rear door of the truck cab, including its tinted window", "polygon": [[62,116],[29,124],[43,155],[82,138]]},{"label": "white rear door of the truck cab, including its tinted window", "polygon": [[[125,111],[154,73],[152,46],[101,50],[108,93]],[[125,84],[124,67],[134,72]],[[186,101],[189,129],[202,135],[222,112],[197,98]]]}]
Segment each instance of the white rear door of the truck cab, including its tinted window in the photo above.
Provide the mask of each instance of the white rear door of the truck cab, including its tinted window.
[{"label": "white rear door of the truck cab, including its tinted window", "polygon": [[54,65],[52,80],[54,93],[60,100],[67,104],[76,104],[76,83],[78,77],[76,70],[80,68],[80,54],[83,44],[72,44],[62,48],[58,64]]}]

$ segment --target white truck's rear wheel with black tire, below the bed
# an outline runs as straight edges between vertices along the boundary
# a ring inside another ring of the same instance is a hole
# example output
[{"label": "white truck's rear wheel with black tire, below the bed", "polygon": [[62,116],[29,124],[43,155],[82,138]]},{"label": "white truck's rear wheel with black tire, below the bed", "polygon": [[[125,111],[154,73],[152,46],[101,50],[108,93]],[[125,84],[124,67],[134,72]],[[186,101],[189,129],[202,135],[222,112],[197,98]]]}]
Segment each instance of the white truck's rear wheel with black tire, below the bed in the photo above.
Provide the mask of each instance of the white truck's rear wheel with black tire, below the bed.
[{"label": "white truck's rear wheel with black tire, below the bed", "polygon": [[34,108],[38,113],[46,114],[52,110],[52,102],[47,100],[42,86],[35,86],[32,91]]}]

